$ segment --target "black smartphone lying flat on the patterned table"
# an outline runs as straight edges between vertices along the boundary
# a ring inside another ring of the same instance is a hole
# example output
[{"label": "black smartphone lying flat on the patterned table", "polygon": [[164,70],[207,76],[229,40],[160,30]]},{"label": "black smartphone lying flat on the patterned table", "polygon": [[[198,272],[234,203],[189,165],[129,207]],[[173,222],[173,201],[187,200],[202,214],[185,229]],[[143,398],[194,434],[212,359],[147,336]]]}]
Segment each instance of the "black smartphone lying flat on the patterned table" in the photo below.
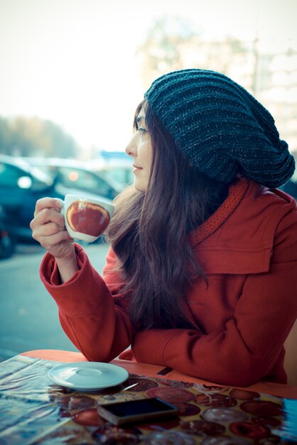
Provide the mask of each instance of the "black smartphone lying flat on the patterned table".
[{"label": "black smartphone lying flat on the patterned table", "polygon": [[99,404],[97,412],[99,416],[107,419],[112,424],[121,425],[174,416],[178,414],[178,408],[158,397],[151,397],[148,399],[129,400],[128,402]]}]

